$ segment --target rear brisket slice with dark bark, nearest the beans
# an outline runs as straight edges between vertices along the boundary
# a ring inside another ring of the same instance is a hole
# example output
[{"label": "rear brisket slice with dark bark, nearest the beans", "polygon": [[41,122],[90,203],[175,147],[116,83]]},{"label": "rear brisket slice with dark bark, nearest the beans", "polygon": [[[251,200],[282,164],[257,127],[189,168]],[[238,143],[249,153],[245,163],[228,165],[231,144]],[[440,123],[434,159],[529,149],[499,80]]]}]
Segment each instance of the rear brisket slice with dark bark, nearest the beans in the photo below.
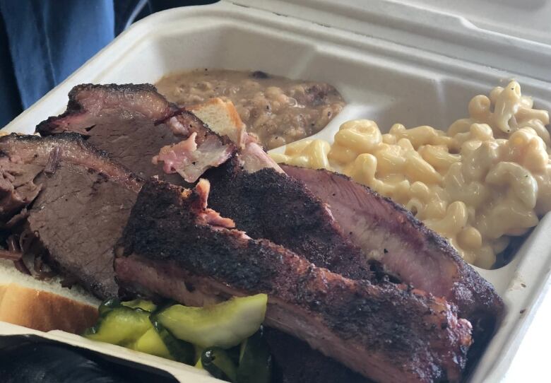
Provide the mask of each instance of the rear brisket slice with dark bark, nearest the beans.
[{"label": "rear brisket slice with dark bark, nearest the beans", "polygon": [[[235,151],[228,139],[214,134],[194,114],[179,110],[149,84],[76,86],[66,112],[41,122],[37,131],[44,136],[80,133],[139,177],[159,175],[174,184],[185,184],[180,175],[172,174],[177,170],[194,182],[207,167],[223,163]],[[167,165],[171,174],[165,174],[162,161],[177,166]]]}]

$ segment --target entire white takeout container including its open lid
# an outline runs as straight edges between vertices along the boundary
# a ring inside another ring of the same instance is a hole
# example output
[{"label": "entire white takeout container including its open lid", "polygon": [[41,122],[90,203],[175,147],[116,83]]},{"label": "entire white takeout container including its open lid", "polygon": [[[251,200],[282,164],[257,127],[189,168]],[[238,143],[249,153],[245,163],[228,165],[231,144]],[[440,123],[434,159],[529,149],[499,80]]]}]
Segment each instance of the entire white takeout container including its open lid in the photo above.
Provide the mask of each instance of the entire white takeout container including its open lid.
[{"label": "entire white takeout container including its open lid", "polygon": [[[5,129],[32,133],[42,119],[64,110],[67,93],[78,83],[154,83],[172,71],[203,67],[259,69],[331,83],[348,105],[315,135],[328,141],[342,122],[356,118],[374,119],[383,130],[395,122],[446,129],[467,117],[470,98],[511,78],[533,96],[536,107],[551,110],[551,1],[455,3],[239,0],[156,13],[131,26]],[[492,18],[484,16],[490,11]],[[509,264],[478,270],[503,297],[506,317],[470,382],[506,375],[549,285],[548,232],[550,214]],[[45,334],[0,323],[0,335],[8,334],[35,334],[139,361],[180,382],[214,381],[193,367],[61,331]]]}]

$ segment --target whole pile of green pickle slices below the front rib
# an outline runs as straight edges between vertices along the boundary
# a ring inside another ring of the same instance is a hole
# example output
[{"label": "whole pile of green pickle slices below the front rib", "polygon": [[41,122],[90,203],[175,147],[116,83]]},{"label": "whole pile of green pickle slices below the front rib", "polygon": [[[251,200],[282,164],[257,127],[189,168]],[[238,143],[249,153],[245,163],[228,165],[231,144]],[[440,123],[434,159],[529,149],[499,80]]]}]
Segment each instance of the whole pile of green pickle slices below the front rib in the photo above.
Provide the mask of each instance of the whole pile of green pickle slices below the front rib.
[{"label": "whole pile of green pickle slices below the front rib", "polygon": [[[235,383],[269,383],[271,355],[261,324],[268,296],[232,297],[208,307],[158,307],[113,297],[83,336],[195,365]],[[260,328],[260,329],[259,329]]]}]

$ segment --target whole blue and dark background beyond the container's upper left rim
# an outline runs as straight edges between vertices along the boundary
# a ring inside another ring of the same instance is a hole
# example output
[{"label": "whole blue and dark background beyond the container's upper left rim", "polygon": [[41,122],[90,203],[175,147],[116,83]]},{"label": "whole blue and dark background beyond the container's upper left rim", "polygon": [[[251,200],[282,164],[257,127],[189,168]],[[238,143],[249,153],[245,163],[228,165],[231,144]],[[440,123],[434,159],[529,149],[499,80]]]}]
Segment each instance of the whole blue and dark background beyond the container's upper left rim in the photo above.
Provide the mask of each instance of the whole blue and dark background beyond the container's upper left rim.
[{"label": "whole blue and dark background beyond the container's upper left rim", "polygon": [[[0,0],[0,128],[150,13],[215,0]],[[46,116],[45,116],[46,117]]]}]

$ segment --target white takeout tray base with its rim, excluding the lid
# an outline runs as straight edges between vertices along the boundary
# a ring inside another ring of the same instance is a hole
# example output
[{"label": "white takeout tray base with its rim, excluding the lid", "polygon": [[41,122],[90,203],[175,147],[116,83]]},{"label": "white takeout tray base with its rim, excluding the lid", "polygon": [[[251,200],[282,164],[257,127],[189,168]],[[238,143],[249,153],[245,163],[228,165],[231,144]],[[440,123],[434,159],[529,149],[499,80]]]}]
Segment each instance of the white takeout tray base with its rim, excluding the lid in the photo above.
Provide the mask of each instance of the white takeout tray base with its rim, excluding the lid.
[{"label": "white takeout tray base with its rim, excluding the lid", "polygon": [[[67,93],[78,83],[154,83],[166,73],[199,67],[261,69],[331,83],[348,106],[316,134],[329,141],[340,122],[363,117],[374,119],[383,130],[395,122],[446,129],[455,119],[466,116],[470,98],[487,94],[510,78],[521,83],[523,94],[532,95],[538,108],[551,110],[549,83],[529,72],[492,69],[426,49],[221,1],[155,13],[139,21],[4,129],[32,133],[42,119],[64,110]],[[494,382],[505,375],[538,311],[541,292],[549,283],[551,238],[545,233],[550,231],[551,216],[547,214],[510,264],[497,270],[479,270],[504,298],[507,314],[470,382]],[[0,334],[20,331],[37,333],[0,324]],[[78,337],[59,331],[41,335],[80,342]],[[126,353],[90,341],[79,345],[120,358],[124,358],[120,353]],[[150,360],[146,355],[142,358]],[[148,363],[167,370],[157,359]],[[169,366],[167,371],[172,373],[177,367]],[[178,379],[184,382],[185,377],[196,379],[194,372],[182,365]]]}]

